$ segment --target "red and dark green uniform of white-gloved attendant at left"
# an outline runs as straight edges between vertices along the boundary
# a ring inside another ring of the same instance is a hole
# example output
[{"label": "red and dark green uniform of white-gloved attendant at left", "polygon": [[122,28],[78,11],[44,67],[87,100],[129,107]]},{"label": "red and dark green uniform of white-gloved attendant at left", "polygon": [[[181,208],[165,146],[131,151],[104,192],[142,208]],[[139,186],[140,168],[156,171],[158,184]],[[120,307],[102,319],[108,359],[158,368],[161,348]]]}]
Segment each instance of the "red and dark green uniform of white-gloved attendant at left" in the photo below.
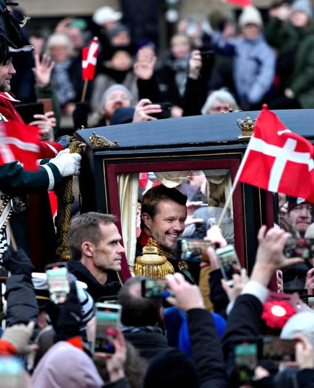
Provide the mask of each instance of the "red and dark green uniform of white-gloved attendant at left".
[{"label": "red and dark green uniform of white-gloved attendant at left", "polygon": [[[19,101],[10,93],[0,92],[0,121],[23,123],[12,102]],[[54,158],[62,149],[64,146],[59,143],[40,142],[39,158]],[[58,168],[49,160],[43,163],[36,172],[25,170],[18,161],[0,166],[0,193],[3,194],[4,204],[8,203],[8,207],[13,205],[9,217],[17,246],[31,256],[36,270],[42,269],[44,254],[46,262],[54,257],[54,226],[48,196],[39,194],[47,193],[62,183]],[[2,236],[4,228],[0,223]],[[8,233],[6,236],[9,237]],[[5,240],[4,237],[0,242],[0,255],[1,249],[5,249]]]}]

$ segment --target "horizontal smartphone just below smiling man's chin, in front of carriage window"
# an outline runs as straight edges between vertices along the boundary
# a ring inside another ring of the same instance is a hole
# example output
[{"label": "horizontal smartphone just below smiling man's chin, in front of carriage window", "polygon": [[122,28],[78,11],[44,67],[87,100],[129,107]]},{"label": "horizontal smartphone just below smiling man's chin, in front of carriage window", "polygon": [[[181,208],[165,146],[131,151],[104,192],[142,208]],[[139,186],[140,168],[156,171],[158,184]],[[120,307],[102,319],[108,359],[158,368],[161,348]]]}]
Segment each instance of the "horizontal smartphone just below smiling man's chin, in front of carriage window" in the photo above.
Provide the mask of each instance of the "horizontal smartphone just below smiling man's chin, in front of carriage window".
[{"label": "horizontal smartphone just below smiling man's chin, in front of carriage window", "polygon": [[209,241],[198,239],[178,239],[177,241],[177,258],[183,261],[200,262],[203,250],[210,246]]}]

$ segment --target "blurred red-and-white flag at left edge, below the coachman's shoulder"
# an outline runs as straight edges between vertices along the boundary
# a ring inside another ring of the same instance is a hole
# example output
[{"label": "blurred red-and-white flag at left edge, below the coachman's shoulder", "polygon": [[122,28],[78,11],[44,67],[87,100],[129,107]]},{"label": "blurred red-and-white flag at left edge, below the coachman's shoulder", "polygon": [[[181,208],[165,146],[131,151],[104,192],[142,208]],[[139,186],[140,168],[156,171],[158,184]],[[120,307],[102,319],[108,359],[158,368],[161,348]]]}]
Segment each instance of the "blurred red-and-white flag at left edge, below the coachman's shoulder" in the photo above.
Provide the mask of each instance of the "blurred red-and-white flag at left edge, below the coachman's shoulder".
[{"label": "blurred red-and-white flag at left edge, below the coachman's shoulder", "polygon": [[18,161],[25,170],[37,171],[39,151],[38,127],[17,121],[0,123],[0,166]]}]

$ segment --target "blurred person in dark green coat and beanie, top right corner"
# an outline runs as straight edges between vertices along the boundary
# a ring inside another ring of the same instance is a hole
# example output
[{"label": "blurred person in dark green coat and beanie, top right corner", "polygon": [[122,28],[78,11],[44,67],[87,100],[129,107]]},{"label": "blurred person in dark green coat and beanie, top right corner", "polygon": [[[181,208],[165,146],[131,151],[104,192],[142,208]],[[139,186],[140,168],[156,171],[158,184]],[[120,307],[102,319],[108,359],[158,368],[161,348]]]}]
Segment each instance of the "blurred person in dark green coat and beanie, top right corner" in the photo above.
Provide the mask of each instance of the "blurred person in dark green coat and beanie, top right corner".
[{"label": "blurred person in dark green coat and beanie, top right corner", "polygon": [[272,10],[265,37],[278,52],[278,97],[270,109],[314,108],[314,21],[310,1]]}]

